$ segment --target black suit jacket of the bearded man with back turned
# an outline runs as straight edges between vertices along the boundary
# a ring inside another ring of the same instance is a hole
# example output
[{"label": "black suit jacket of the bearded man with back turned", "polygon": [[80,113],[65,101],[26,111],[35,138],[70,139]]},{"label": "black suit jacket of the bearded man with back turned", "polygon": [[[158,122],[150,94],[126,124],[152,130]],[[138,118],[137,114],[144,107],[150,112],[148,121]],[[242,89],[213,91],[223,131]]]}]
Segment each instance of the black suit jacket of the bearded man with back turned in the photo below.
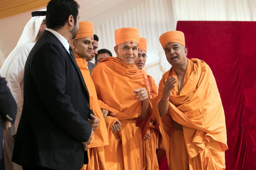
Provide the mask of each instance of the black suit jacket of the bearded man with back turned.
[{"label": "black suit jacket of the bearded man with back turned", "polygon": [[80,169],[88,162],[82,142],[91,134],[89,115],[89,93],[79,68],[57,37],[45,30],[25,64],[24,103],[12,161]]}]

